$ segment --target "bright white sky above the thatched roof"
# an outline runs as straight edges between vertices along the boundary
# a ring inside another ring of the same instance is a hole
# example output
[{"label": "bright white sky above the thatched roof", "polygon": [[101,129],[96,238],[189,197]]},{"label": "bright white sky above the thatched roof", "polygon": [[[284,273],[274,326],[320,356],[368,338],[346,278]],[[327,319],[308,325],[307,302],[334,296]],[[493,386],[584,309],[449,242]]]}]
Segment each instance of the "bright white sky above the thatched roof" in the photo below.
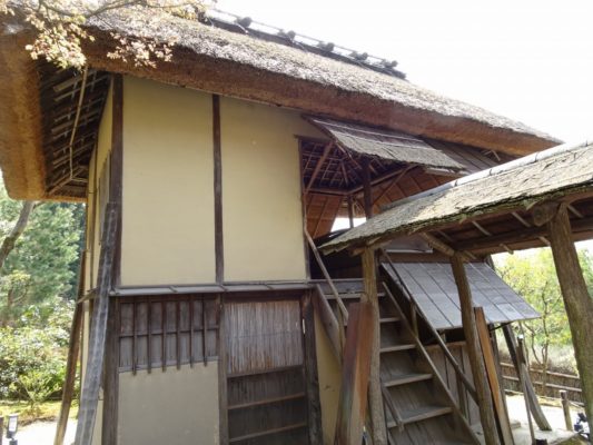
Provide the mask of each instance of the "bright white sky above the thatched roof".
[{"label": "bright white sky above the thatched roof", "polygon": [[591,0],[218,0],[217,8],[395,59],[414,83],[564,141],[593,138]]}]

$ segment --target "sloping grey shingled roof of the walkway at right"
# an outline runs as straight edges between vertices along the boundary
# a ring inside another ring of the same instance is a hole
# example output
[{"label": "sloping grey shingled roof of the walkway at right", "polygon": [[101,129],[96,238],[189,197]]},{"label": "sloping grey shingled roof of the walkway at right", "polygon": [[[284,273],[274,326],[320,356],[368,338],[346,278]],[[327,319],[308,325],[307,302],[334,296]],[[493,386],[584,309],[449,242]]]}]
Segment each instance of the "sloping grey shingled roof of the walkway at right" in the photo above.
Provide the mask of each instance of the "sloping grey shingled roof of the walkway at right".
[{"label": "sloping grey shingled roof of the walkway at right", "polygon": [[593,142],[559,146],[395,202],[322,249],[368,245],[586,191],[593,191]]}]

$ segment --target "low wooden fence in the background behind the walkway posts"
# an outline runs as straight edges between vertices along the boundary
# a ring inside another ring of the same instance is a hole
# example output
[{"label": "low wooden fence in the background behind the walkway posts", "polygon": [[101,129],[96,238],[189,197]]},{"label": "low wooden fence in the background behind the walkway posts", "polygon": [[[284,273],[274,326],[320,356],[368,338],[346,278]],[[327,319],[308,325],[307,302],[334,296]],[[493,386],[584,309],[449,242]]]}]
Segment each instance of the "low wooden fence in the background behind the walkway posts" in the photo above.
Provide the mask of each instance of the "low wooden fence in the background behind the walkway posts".
[{"label": "low wooden fence in the background behind the walkway posts", "polygon": [[[510,363],[501,363],[503,370],[504,388],[521,392],[518,377],[515,367]],[[544,373],[538,369],[530,369],[530,376],[538,396],[560,398],[560,390],[569,394],[569,399],[579,404],[583,403],[581,379],[579,376],[561,373],[546,373],[544,385]]]}]

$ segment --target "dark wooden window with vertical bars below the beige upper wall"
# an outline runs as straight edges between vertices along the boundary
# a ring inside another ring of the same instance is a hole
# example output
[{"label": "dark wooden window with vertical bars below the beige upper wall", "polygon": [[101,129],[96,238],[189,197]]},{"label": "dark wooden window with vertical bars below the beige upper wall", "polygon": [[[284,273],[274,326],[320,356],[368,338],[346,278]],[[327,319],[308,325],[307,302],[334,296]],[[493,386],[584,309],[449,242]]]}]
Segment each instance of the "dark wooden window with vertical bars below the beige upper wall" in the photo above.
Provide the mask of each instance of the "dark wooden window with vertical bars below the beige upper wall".
[{"label": "dark wooden window with vertical bars below the beige upper wall", "polygon": [[215,297],[129,297],[118,303],[120,372],[150,372],[218,358]]}]

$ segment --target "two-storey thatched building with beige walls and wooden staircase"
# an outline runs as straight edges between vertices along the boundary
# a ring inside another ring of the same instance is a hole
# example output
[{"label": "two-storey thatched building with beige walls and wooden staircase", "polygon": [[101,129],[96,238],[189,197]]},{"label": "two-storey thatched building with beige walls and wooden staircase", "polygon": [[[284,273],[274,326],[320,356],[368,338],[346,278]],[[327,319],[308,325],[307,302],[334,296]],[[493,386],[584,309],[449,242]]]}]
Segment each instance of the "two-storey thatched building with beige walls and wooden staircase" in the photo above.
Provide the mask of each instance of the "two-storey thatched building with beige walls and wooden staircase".
[{"label": "two-storey thatched building with beige walls and wooden staircase", "polygon": [[[30,30],[2,20],[9,195],[87,204],[77,444],[359,444],[369,372],[375,444],[477,443],[484,382],[466,349],[452,353],[465,323],[444,256],[389,238],[365,283],[368,257],[317,246],[354,239],[330,234],[337,217],[424,202],[554,138],[415,86],[393,62],[217,11],[150,30],[179,38],[157,69],[107,57],[110,32],[136,32],[125,16],[91,22],[81,72],[31,60]],[[486,233],[497,239],[477,222],[441,236]],[[485,323],[537,316],[484,265],[513,246],[486,244],[470,249]],[[365,344],[377,354],[363,359]]]}]

